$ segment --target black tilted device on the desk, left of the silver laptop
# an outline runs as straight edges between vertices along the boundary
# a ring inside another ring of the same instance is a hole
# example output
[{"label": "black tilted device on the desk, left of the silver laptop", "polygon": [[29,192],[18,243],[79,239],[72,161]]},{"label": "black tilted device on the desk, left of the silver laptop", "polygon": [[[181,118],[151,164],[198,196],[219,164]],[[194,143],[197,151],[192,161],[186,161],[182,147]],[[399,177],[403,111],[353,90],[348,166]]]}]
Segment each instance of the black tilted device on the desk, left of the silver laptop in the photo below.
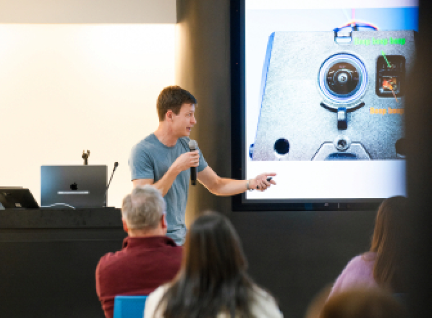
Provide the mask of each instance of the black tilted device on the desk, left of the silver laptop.
[{"label": "black tilted device on the desk, left of the silver laptop", "polygon": [[22,187],[0,187],[0,209],[38,209],[30,190]]}]

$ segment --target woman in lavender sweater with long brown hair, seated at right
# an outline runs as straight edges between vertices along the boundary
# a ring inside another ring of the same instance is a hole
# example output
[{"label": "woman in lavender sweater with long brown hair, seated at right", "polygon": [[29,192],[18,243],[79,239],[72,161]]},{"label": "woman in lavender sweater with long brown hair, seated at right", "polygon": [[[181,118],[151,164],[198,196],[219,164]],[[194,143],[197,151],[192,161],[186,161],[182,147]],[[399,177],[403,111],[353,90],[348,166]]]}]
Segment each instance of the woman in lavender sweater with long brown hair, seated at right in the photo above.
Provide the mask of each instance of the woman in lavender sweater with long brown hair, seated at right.
[{"label": "woman in lavender sweater with long brown hair, seated at right", "polygon": [[381,203],[370,250],[346,265],[329,297],[357,286],[381,287],[395,293],[405,291],[402,247],[406,240],[406,209],[407,199],[403,196],[390,197]]}]

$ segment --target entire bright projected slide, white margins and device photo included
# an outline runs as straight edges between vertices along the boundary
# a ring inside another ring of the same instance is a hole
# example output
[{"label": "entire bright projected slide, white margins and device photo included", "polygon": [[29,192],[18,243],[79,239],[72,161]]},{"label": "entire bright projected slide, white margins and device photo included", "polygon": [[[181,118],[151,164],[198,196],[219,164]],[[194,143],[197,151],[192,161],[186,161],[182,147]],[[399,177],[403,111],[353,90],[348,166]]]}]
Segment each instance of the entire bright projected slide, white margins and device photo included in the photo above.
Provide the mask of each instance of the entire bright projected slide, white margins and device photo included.
[{"label": "entire bright projected slide, white margins and device photo included", "polygon": [[417,2],[258,3],[245,3],[245,166],[278,186],[246,198],[406,195]]}]

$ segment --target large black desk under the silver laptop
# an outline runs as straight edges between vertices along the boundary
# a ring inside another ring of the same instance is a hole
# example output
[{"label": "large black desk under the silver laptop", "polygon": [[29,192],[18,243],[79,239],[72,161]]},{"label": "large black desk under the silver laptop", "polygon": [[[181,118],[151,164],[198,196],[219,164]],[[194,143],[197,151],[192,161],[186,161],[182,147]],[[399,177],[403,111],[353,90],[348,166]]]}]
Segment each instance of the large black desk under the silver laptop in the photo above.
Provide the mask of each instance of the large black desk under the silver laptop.
[{"label": "large black desk under the silver laptop", "polygon": [[2,316],[103,318],[94,270],[125,237],[115,208],[0,210]]}]

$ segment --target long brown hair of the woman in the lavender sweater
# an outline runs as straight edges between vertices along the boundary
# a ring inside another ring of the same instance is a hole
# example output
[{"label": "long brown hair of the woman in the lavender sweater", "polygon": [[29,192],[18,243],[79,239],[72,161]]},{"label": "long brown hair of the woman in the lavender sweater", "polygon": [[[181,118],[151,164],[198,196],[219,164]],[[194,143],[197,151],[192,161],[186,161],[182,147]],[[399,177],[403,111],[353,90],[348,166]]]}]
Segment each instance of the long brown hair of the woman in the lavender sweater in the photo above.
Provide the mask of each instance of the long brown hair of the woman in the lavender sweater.
[{"label": "long brown hair of the woman in the lavender sweater", "polygon": [[[404,247],[407,240],[407,198],[393,196],[384,200],[377,213],[370,252],[376,253],[374,279],[378,285],[402,292]],[[365,255],[367,258],[367,255]]]}]

